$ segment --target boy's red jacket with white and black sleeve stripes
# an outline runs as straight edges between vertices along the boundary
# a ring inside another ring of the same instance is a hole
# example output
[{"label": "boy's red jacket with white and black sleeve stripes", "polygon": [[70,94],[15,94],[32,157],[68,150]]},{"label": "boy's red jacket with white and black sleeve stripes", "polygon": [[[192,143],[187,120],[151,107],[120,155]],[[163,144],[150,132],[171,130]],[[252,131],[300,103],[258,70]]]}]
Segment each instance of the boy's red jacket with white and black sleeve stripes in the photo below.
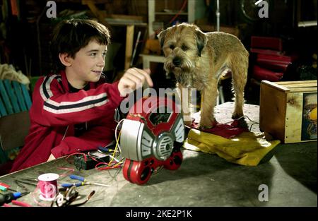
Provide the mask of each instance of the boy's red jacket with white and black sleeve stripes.
[{"label": "boy's red jacket with white and black sleeve stripes", "polygon": [[[30,131],[11,172],[46,162],[51,153],[57,158],[114,141],[115,109],[123,99],[118,82],[104,78],[78,92],[70,92],[64,71],[40,78],[33,90]],[[86,131],[74,136],[74,125],[83,122]]]}]

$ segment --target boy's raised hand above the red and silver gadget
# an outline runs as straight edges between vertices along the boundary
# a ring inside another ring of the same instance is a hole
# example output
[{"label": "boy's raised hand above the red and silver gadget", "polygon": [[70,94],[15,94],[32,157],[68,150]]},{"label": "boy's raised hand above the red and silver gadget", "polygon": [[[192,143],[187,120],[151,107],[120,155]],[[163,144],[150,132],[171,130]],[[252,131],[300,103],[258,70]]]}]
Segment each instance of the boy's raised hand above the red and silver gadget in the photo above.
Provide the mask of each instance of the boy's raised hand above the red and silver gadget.
[{"label": "boy's raised hand above the red and silver gadget", "polygon": [[125,97],[137,88],[141,88],[145,83],[152,87],[153,80],[151,80],[150,73],[150,69],[129,68],[118,83],[120,96]]}]

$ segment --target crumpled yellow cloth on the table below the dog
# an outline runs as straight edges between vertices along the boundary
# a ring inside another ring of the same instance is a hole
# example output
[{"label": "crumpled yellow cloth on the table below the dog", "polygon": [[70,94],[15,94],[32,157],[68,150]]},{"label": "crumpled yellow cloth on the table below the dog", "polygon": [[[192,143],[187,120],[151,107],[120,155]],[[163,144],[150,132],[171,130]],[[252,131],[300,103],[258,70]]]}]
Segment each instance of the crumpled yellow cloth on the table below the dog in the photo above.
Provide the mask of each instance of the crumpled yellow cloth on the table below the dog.
[{"label": "crumpled yellow cloth on the table below the dog", "polygon": [[191,129],[184,148],[216,153],[239,165],[257,166],[261,159],[281,141],[266,141],[264,133],[243,132],[235,138],[223,138],[212,133]]}]

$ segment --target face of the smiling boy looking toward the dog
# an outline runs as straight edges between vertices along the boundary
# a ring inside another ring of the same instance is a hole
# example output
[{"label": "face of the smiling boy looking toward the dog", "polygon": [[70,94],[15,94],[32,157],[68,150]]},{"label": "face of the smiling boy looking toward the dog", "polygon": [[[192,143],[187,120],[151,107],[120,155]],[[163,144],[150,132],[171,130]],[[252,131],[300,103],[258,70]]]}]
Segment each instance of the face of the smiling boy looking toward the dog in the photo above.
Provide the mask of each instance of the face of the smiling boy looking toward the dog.
[{"label": "face of the smiling boy looking toward the dog", "polygon": [[66,75],[71,76],[68,78],[71,85],[81,88],[88,82],[100,80],[106,53],[107,45],[91,40],[75,54],[74,58],[70,58],[71,66],[66,67]]}]

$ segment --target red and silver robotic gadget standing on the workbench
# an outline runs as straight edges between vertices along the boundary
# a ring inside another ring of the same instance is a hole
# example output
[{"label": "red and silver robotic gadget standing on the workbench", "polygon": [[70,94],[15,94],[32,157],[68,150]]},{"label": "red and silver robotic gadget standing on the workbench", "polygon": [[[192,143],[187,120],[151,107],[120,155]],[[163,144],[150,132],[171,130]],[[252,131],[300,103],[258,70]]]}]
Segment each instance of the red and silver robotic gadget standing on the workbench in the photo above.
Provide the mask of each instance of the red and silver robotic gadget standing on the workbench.
[{"label": "red and silver robotic gadget standing on the workbench", "polygon": [[145,184],[159,167],[178,169],[182,162],[184,122],[179,108],[163,97],[142,98],[122,124],[120,145],[125,179]]}]

